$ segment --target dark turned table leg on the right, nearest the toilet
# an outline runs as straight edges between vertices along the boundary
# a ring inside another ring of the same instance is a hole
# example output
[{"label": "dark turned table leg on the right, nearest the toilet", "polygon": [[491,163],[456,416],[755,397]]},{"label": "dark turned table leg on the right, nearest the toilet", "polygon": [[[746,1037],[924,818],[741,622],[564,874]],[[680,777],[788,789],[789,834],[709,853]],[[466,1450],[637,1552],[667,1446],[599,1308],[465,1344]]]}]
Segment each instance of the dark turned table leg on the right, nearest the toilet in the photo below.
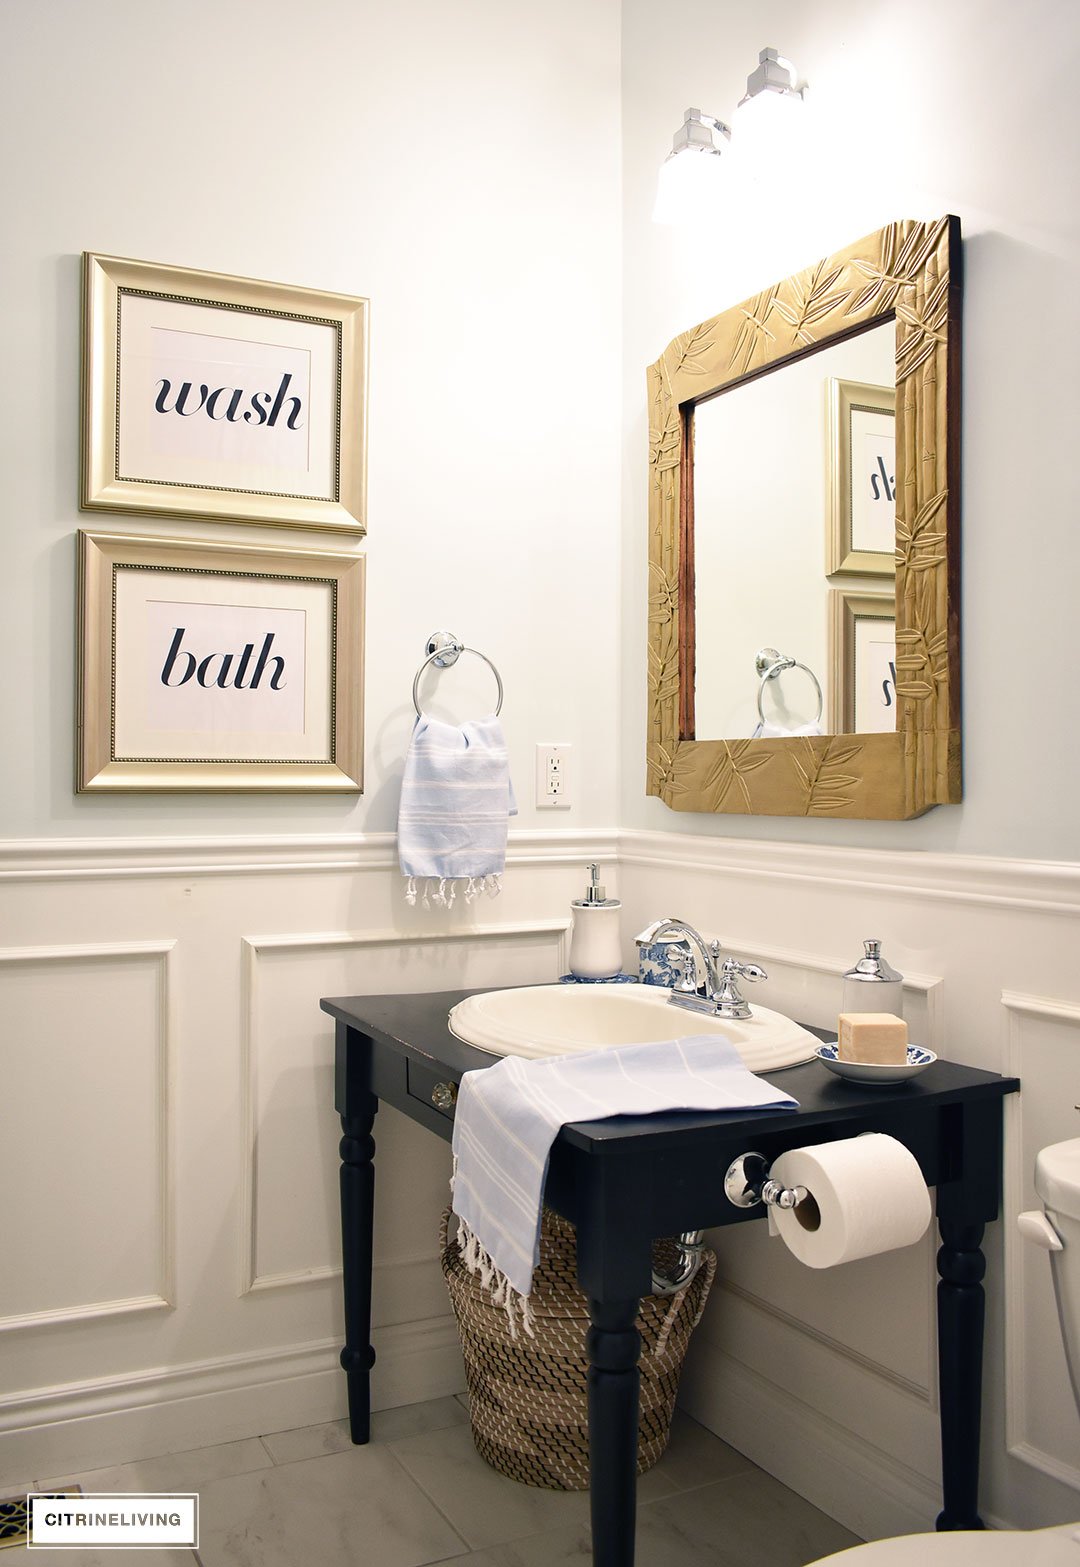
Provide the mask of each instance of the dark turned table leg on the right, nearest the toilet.
[{"label": "dark turned table leg on the right, nearest the toilet", "polygon": [[939,1529],[981,1529],[978,1435],[983,1404],[981,1224],[939,1219],[937,1377],[940,1390],[942,1511]]}]

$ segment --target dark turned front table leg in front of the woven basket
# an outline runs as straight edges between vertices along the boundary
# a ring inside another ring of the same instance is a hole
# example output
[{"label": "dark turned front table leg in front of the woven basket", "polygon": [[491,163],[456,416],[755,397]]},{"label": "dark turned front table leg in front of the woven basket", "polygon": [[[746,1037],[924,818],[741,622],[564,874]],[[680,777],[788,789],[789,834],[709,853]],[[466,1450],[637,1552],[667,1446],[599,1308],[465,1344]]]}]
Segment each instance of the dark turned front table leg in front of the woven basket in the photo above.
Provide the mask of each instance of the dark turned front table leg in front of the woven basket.
[{"label": "dark turned front table leg in front of the woven basket", "polygon": [[593,1567],[633,1567],[638,1482],[638,1301],[589,1301]]}]

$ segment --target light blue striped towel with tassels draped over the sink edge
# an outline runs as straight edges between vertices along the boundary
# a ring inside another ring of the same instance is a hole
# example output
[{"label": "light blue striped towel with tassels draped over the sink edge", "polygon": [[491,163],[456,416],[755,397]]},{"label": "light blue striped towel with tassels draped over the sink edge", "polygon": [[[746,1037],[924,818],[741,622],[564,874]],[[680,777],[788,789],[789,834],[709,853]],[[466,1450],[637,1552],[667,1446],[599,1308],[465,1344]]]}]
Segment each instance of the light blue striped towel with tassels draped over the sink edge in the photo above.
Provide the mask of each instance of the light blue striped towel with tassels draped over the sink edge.
[{"label": "light blue striped towel with tassels draped over the sink edge", "polygon": [[497,1305],[522,1313],[539,1261],[552,1144],[572,1120],[658,1109],[798,1109],[754,1077],[719,1034],[524,1061],[466,1072],[453,1127],[453,1211],[466,1266]]}]

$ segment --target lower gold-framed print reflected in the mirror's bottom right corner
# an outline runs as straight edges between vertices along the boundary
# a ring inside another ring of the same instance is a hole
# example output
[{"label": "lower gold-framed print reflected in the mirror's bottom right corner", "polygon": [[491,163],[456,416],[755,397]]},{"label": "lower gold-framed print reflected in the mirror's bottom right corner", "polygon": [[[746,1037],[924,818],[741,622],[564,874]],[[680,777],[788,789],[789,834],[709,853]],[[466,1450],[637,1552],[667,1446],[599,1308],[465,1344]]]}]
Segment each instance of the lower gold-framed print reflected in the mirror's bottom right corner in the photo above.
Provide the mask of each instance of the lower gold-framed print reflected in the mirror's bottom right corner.
[{"label": "lower gold-framed print reflected in the mirror's bottom right corner", "polygon": [[829,733],[897,729],[897,603],[890,592],[834,589],[829,641]]}]

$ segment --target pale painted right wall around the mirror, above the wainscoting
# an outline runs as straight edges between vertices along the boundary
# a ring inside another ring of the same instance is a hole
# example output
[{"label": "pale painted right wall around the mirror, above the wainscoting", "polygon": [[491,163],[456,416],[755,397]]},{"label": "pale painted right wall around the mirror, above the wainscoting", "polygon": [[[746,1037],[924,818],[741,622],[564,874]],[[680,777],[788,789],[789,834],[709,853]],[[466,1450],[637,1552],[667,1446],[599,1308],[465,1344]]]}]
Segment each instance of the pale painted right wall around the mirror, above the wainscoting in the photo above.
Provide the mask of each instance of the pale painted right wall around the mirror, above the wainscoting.
[{"label": "pale painted right wall around the mirror, above the wainscoting", "polygon": [[[1067,0],[672,0],[663,11],[624,0],[622,16],[621,824],[1080,859],[1080,13]],[[809,80],[812,130],[773,190],[734,196],[712,233],[652,224],[682,111],[730,121],[765,45]],[[671,812],[644,794],[646,365],[696,321],[892,218],[945,212],[961,218],[966,268],[964,802],[914,823]]]}]

